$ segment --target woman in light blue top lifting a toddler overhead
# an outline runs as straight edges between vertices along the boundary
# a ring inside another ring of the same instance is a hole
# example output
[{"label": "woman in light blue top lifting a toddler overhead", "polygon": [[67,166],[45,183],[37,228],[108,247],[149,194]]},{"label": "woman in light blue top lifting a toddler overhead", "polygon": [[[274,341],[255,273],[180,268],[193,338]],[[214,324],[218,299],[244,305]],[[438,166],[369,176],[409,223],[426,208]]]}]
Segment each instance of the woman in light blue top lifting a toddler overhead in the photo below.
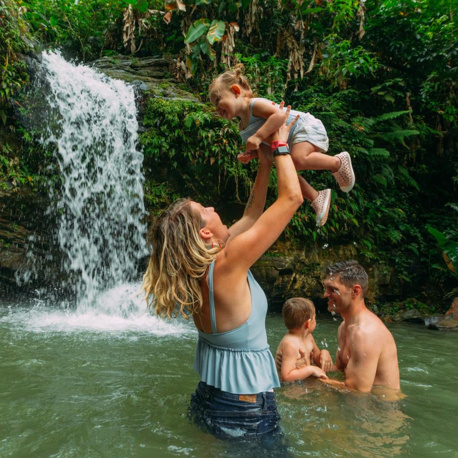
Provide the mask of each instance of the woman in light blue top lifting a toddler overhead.
[{"label": "woman in light blue top lifting a toddler overhead", "polygon": [[[288,107],[289,113],[290,107]],[[295,121],[294,121],[295,122]],[[294,124],[271,141],[286,141]],[[181,199],[151,228],[144,289],[155,313],[192,313],[199,332],[194,368],[201,375],[190,417],[222,438],[250,438],[279,431],[273,388],[280,386],[269,351],[266,296],[249,268],[272,245],[302,204],[287,147],[274,152],[278,198],[263,213],[272,154],[260,167],[243,217],[227,228],[213,207]]]}]

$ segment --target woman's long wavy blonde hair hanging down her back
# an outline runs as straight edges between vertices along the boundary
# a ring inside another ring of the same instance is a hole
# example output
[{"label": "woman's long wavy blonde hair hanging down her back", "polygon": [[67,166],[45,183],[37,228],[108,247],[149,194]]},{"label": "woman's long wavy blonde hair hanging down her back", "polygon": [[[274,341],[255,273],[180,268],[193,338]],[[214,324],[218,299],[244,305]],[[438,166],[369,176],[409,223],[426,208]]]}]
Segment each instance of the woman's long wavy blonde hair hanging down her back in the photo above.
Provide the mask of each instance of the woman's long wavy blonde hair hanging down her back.
[{"label": "woman's long wavy blonde hair hanging down her back", "polygon": [[[148,308],[160,317],[188,319],[202,309],[200,281],[216,259],[220,245],[206,245],[199,235],[205,225],[190,199],[179,199],[150,228],[152,253],[143,276]],[[152,297],[151,297],[152,295]]]}]

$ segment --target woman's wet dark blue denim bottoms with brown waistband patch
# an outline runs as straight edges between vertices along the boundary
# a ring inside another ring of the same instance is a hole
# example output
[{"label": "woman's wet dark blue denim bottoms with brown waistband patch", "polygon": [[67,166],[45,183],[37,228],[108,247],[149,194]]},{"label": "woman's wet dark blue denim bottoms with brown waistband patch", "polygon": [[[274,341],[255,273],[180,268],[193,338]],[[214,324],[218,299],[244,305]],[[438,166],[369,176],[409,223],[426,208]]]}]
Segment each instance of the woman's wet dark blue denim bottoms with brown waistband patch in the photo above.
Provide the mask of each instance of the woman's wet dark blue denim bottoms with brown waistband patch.
[{"label": "woman's wet dark blue denim bottoms with brown waistband patch", "polygon": [[270,438],[275,442],[283,436],[275,395],[270,391],[239,395],[199,382],[191,395],[188,417],[219,439],[265,442]]}]

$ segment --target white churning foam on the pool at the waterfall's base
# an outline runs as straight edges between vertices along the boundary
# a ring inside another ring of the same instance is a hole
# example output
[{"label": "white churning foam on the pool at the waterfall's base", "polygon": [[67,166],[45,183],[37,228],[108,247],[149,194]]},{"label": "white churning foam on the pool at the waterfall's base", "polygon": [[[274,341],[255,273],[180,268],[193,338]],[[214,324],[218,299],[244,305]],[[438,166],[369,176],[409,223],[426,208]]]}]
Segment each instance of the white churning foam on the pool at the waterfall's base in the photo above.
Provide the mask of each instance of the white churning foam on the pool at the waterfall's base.
[{"label": "white churning foam on the pool at the waterfall's base", "polygon": [[183,319],[159,319],[146,308],[146,301],[140,291],[140,283],[119,285],[95,298],[92,308],[84,311],[69,308],[50,308],[45,300],[36,300],[30,307],[20,304],[8,307],[0,318],[0,324],[9,323],[14,327],[31,332],[124,332],[134,331],[154,335],[192,334],[192,323]]}]

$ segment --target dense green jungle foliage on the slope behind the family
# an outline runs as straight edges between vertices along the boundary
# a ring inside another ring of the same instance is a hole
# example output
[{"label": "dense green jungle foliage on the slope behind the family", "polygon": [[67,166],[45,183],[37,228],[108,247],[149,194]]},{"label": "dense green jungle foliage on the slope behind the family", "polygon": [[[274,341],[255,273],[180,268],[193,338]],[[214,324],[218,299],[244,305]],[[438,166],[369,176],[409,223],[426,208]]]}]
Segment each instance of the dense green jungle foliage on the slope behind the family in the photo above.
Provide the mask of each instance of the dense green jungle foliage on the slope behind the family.
[{"label": "dense green jungle foliage on the slope behind the family", "polygon": [[285,246],[355,242],[361,262],[386,263],[440,309],[457,293],[455,15],[453,0],[2,0],[0,129],[17,141],[0,141],[0,186],[59,185],[52,152],[15,115],[28,84],[24,54],[59,48],[84,63],[165,56],[169,78],[203,103],[149,100],[140,133],[147,205],[154,214],[191,195],[235,218],[256,163],[235,160],[243,144],[235,123],[216,117],[208,85],[241,62],[259,96],[311,112],[329,153],[354,161],[349,194],[330,173],[304,172],[317,189],[333,189],[332,211],[318,230],[302,206]]}]

